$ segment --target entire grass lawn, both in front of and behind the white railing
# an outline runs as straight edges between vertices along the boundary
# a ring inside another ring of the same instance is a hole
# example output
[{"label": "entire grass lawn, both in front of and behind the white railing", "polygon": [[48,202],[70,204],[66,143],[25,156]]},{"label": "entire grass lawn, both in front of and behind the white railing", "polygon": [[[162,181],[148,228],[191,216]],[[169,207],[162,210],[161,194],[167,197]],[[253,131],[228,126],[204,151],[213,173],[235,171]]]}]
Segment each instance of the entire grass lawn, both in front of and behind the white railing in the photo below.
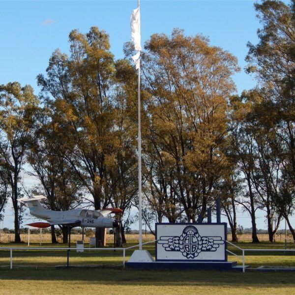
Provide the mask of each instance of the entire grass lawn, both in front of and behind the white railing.
[{"label": "entire grass lawn, both in front of and behind the white railing", "polygon": [[[238,246],[283,248],[281,243],[239,243]],[[154,255],[153,244],[144,248]],[[229,249],[240,254],[234,247]],[[132,252],[133,249],[126,251],[127,259]],[[235,256],[229,255],[228,258],[237,261]],[[102,266],[69,269],[48,267],[65,264],[64,250],[14,250],[13,269],[10,270],[9,251],[0,250],[0,294],[295,294],[295,272],[132,270],[122,268],[122,251],[90,250],[77,253],[74,249],[70,251],[70,265]],[[246,252],[246,265],[295,266],[295,255]]]}]

